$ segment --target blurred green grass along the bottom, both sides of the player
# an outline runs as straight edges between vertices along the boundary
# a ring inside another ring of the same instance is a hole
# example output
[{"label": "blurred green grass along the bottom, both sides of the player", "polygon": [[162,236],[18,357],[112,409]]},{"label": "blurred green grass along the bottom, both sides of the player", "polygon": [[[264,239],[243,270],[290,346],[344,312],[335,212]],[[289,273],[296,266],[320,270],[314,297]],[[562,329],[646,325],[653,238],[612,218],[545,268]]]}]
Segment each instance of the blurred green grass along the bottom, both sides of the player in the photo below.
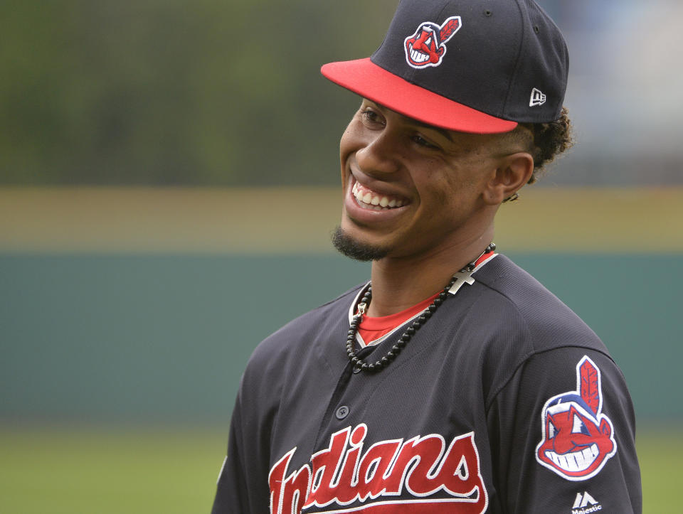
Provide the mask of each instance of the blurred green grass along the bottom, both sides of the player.
[{"label": "blurred green grass along the bottom, both sides of the player", "polygon": [[[222,430],[0,430],[5,514],[208,513],[226,446]],[[638,437],[645,513],[681,511],[683,438]]]}]

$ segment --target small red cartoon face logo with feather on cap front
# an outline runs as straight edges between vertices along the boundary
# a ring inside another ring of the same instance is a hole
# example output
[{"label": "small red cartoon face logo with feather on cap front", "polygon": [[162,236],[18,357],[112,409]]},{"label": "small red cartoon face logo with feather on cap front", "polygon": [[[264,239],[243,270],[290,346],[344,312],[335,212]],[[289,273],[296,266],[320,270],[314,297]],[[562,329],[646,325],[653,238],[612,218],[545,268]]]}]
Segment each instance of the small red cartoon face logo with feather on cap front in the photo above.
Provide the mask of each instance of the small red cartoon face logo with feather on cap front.
[{"label": "small red cartoon face logo with feather on cap front", "polygon": [[413,36],[406,38],[403,43],[408,64],[413,68],[440,65],[446,55],[446,42],[461,26],[460,16],[451,16],[442,26],[431,21],[422,23]]}]

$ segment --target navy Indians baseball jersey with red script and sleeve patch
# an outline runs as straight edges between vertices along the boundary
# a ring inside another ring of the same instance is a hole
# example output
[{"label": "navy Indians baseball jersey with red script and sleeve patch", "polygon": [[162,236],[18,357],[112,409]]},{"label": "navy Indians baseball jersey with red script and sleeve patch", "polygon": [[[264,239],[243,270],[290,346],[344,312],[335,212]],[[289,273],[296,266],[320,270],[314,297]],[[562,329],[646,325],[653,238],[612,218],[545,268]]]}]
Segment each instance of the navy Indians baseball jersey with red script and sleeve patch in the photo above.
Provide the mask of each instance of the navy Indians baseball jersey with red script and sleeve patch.
[{"label": "navy Indians baseball jersey with red script and sleeve patch", "polygon": [[345,351],[362,286],[260,343],[213,514],[640,513],[632,403],[598,336],[503,255],[472,278],[378,373]]}]

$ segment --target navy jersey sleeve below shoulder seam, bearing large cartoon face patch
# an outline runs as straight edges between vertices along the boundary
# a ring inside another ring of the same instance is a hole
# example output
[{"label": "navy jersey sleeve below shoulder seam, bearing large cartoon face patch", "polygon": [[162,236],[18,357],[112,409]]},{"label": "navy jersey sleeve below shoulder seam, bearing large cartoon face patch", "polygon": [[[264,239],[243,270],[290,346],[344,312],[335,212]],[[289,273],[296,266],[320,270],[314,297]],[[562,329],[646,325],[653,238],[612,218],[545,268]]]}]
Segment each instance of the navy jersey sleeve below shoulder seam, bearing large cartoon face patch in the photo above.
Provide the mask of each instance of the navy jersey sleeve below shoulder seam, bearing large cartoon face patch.
[{"label": "navy jersey sleeve below shoulder seam, bearing large cartoon face patch", "polygon": [[567,346],[532,355],[488,413],[489,431],[502,441],[500,468],[526,469],[516,483],[501,478],[519,510],[568,507],[580,481],[607,512],[640,505],[635,414],[623,375],[605,353]]}]

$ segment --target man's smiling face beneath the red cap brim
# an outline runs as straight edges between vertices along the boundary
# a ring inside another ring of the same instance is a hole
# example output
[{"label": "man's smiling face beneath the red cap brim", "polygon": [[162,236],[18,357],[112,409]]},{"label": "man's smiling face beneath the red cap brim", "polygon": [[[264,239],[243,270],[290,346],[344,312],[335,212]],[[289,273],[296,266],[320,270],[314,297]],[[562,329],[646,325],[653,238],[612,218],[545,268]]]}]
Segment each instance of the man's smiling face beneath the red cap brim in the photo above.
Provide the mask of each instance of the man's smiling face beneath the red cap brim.
[{"label": "man's smiling face beneath the red cap brim", "polygon": [[378,256],[419,259],[479,237],[496,209],[482,191],[496,173],[497,141],[364,100],[340,144],[346,240]]}]

